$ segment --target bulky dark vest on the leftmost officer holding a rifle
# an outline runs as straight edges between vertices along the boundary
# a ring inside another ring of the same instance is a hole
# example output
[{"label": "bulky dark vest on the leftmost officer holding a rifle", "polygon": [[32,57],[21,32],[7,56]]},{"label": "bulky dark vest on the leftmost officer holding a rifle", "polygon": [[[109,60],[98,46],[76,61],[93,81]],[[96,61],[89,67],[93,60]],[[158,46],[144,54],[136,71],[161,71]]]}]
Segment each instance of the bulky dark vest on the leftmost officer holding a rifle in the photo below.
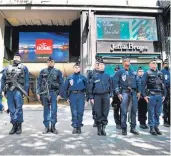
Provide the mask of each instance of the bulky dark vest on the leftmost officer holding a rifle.
[{"label": "bulky dark vest on the leftmost officer holding a rifle", "polygon": [[13,83],[16,81],[22,88],[25,86],[25,70],[24,65],[19,64],[18,66],[9,65],[6,70],[6,85],[7,88],[13,87]]}]

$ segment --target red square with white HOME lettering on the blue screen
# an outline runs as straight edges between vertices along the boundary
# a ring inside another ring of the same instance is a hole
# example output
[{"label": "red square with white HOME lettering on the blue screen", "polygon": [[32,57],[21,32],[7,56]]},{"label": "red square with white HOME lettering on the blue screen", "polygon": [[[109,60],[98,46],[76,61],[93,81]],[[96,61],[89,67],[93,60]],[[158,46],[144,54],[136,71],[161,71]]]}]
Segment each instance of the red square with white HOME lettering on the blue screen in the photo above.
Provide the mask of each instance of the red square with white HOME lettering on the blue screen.
[{"label": "red square with white HOME lettering on the blue screen", "polygon": [[52,54],[53,41],[52,40],[36,40],[36,54]]}]

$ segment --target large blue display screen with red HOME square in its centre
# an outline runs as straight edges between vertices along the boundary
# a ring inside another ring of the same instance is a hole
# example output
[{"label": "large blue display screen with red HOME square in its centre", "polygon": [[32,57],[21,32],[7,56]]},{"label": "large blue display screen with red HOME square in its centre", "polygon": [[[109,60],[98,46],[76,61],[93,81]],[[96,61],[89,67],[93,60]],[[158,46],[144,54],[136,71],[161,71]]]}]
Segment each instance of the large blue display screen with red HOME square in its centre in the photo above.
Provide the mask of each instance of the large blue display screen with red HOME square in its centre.
[{"label": "large blue display screen with red HOME square in its centre", "polygon": [[69,61],[68,32],[19,32],[19,53],[23,62]]}]

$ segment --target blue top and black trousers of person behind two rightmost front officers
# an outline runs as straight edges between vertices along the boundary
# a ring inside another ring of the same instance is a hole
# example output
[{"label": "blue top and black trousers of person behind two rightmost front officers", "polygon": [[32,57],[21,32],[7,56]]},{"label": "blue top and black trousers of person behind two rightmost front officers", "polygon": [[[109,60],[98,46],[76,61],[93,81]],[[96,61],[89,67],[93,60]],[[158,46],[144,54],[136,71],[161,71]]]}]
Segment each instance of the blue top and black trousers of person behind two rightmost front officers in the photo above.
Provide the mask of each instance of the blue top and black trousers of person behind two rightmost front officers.
[{"label": "blue top and black trousers of person behind two rightmost front officers", "polygon": [[[137,76],[137,82],[138,82],[138,90],[140,93],[142,93],[143,90],[143,80],[142,76]],[[147,102],[145,99],[141,96],[138,101],[138,121],[140,122],[140,126],[146,127],[146,120],[147,120]]]}]

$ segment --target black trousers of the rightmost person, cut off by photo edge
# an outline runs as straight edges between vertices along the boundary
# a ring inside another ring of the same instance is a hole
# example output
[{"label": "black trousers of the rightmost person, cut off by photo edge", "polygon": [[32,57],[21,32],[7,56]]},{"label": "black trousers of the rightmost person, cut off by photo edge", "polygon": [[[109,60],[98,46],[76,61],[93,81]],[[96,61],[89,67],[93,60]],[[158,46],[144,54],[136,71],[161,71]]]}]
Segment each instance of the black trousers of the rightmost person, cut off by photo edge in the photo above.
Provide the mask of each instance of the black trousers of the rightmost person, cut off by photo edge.
[{"label": "black trousers of the rightmost person, cut off by photo edge", "polygon": [[170,125],[170,91],[167,89],[167,96],[163,102],[163,119]]}]

